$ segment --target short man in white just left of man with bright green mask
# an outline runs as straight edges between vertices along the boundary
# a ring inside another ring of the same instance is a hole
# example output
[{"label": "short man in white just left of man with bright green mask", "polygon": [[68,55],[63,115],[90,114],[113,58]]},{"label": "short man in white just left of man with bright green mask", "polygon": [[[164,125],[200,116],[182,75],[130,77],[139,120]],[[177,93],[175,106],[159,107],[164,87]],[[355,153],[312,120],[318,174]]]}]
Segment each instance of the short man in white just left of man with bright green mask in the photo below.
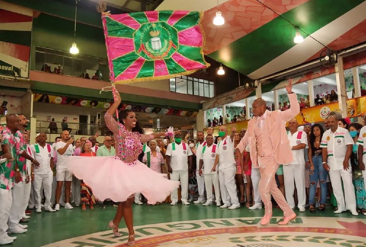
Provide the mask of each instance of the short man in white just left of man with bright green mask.
[{"label": "short man in white just left of man with bright green mask", "polygon": [[[213,136],[206,136],[207,144],[203,146],[201,152],[197,152],[197,160],[199,160],[199,176],[204,176],[206,185],[207,201],[203,203],[203,206],[212,205],[212,184],[215,189],[216,205],[221,206],[220,200],[220,184],[219,174],[217,171],[212,171],[213,165],[216,160],[217,145],[213,144]],[[202,171],[203,168],[203,171]],[[198,176],[197,176],[198,177]]]}]

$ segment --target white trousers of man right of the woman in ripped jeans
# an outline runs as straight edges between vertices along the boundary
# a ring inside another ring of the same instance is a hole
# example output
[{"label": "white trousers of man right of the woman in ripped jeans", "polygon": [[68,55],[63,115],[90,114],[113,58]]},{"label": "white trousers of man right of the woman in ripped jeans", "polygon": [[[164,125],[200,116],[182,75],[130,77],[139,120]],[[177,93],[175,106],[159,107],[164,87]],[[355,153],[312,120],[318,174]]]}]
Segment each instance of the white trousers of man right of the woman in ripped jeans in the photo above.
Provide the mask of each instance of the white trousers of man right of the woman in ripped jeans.
[{"label": "white trousers of man right of the woman in ripped jeans", "polygon": [[[333,194],[337,200],[337,206],[339,210],[351,210],[356,212],[356,196],[355,188],[352,183],[352,169],[348,170],[330,170],[329,171],[330,182],[333,187]],[[342,191],[342,181],[344,188],[344,196]],[[344,201],[346,197],[346,203]]]}]

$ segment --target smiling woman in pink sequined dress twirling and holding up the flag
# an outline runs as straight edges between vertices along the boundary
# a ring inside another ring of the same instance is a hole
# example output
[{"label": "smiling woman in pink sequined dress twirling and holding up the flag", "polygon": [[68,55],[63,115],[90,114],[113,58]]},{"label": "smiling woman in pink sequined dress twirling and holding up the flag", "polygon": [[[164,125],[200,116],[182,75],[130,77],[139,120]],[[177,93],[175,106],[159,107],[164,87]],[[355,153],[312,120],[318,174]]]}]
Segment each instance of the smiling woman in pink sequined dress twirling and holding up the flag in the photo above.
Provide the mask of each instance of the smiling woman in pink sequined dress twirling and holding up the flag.
[{"label": "smiling woman in pink sequined dress twirling and holding up the flag", "polygon": [[120,202],[109,227],[115,236],[122,236],[118,232],[118,225],[124,218],[128,229],[127,245],[133,246],[135,232],[131,205],[134,202],[134,194],[141,192],[147,203],[155,204],[164,201],[171,191],[179,187],[179,182],[168,180],[163,174],[138,161],[142,151],[141,143],[164,136],[165,133],[142,134],[143,129],[131,110],[120,111],[118,123],[113,114],[121,103],[121,97],[118,92],[115,96],[115,102],[105,114],[105,123],[114,134],[116,156],[70,156],[67,165],[78,179],[83,179],[93,189],[94,196],[99,200],[110,198]]}]

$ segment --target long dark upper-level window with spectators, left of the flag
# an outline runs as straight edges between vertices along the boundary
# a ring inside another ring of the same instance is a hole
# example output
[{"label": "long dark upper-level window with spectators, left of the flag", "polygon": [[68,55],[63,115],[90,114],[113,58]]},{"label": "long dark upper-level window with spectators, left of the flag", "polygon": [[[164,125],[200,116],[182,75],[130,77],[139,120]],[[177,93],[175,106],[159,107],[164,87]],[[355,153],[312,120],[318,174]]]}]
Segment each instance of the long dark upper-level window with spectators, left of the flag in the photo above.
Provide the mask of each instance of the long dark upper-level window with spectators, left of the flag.
[{"label": "long dark upper-level window with spectators, left of the flag", "polygon": [[36,47],[35,69],[54,74],[109,81],[107,59]]}]

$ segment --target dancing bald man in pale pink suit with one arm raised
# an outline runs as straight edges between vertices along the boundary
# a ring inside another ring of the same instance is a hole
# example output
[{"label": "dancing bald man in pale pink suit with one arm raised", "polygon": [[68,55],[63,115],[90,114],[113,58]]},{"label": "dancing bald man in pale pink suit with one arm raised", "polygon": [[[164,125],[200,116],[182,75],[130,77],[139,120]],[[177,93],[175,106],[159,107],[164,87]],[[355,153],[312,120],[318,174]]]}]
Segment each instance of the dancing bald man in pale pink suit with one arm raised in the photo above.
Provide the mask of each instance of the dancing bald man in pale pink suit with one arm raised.
[{"label": "dancing bald man in pale pink suit with one arm raised", "polygon": [[296,218],[296,214],[287,204],[279,188],[277,188],[275,173],[279,164],[290,164],[294,157],[288,155],[291,152],[287,138],[285,122],[300,113],[300,105],[296,94],[292,92],[291,80],[286,86],[290,109],[285,111],[266,110],[266,102],[259,98],[253,102],[254,118],[248,122],[248,129],[235,151],[236,157],[244,151],[249,144],[252,167],[258,168],[261,173],[259,180],[259,193],[265,207],[265,214],[261,220],[262,225],[269,223],[272,217],[272,203],[270,195],[284,212],[284,219],[280,225],[287,224]]}]

